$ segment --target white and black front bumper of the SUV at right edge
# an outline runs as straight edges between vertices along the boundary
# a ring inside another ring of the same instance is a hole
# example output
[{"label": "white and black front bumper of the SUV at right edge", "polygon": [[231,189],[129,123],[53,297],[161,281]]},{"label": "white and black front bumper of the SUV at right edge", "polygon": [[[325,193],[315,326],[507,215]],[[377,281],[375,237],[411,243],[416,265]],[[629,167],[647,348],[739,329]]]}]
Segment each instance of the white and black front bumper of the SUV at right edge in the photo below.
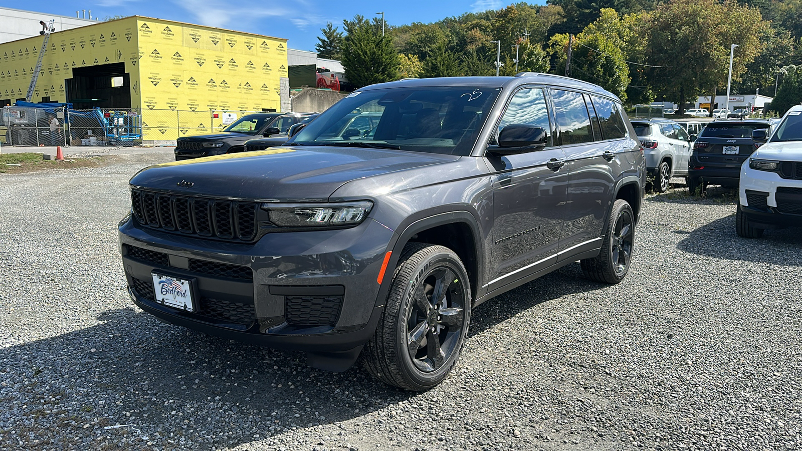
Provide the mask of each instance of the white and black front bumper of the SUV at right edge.
[{"label": "white and black front bumper of the SUV at right edge", "polygon": [[738,191],[751,225],[761,229],[802,226],[802,180],[750,169],[746,163],[741,168]]}]

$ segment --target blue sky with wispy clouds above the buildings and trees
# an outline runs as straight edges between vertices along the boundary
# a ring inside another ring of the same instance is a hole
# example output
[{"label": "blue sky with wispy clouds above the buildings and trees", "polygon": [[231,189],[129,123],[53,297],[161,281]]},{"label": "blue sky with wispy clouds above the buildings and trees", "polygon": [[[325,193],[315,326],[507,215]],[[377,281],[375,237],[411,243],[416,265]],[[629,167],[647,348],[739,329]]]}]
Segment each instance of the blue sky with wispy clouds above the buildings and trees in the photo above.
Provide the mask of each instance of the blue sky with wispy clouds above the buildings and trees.
[{"label": "blue sky with wispy clouds above the buildings and trees", "polygon": [[11,7],[72,17],[75,17],[76,9],[86,8],[92,11],[92,16],[101,19],[138,14],[286,38],[290,39],[290,48],[314,50],[314,44],[318,43],[316,37],[326,22],[332,22],[342,30],[342,19],[353,18],[354,14],[373,17],[375,12],[384,11],[388,24],[403,25],[435,22],[440,18],[472,11],[500,9],[507,4],[501,0],[83,0],[80,4],[42,0]]}]

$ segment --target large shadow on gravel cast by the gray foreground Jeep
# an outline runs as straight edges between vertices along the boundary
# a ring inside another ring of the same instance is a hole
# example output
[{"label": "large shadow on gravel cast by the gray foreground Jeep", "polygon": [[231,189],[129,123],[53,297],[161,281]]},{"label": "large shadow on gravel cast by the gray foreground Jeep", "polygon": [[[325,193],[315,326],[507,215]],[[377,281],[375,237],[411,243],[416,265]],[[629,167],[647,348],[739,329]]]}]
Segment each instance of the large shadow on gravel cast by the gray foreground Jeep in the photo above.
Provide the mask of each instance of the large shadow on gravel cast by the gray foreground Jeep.
[{"label": "large shadow on gravel cast by the gray foreground Jeep", "polygon": [[[581,278],[578,264],[566,266],[477,307],[472,335],[540,303],[599,287]],[[133,308],[98,319],[103,323],[0,349],[0,410],[17,422],[0,424],[16,431],[0,434],[0,448],[34,433],[46,448],[92,449],[98,437],[110,436],[111,444],[122,437],[122,430],[103,426],[128,424],[168,448],[236,446],[257,440],[255,434],[262,440],[431,396],[391,388],[359,366],[318,371],[301,352],[168,326]],[[192,445],[180,446],[181,437]]]}]

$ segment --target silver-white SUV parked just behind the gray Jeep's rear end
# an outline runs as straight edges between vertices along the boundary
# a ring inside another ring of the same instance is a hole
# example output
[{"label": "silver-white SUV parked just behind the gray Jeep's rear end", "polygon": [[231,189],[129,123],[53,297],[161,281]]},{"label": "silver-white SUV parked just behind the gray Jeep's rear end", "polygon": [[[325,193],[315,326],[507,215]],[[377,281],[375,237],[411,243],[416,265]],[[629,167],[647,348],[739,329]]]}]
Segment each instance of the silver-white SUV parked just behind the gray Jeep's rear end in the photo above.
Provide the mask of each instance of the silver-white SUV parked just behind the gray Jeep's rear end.
[{"label": "silver-white SUV parked just behind the gray Jeep's rear end", "polygon": [[646,170],[654,178],[654,189],[665,193],[671,177],[688,175],[691,136],[673,120],[632,120],[635,133],[643,144]]}]

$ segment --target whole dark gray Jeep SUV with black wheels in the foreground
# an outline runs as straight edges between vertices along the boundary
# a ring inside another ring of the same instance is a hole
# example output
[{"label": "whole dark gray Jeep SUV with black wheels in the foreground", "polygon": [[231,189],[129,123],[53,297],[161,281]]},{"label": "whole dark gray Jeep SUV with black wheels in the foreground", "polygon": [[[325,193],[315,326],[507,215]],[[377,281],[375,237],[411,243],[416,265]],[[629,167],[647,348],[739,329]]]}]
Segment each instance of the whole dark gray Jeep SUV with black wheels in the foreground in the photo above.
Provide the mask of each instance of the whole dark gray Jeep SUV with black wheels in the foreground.
[{"label": "whole dark gray Jeep SUV with black wheels in the foreground", "polygon": [[[343,117],[380,112],[369,133]],[[133,302],[212,335],[360,354],[401,388],[456,364],[471,309],[571,262],[627,274],[645,180],[615,95],[557,75],[354,91],[282,147],[152,166],[119,223]]]}]

